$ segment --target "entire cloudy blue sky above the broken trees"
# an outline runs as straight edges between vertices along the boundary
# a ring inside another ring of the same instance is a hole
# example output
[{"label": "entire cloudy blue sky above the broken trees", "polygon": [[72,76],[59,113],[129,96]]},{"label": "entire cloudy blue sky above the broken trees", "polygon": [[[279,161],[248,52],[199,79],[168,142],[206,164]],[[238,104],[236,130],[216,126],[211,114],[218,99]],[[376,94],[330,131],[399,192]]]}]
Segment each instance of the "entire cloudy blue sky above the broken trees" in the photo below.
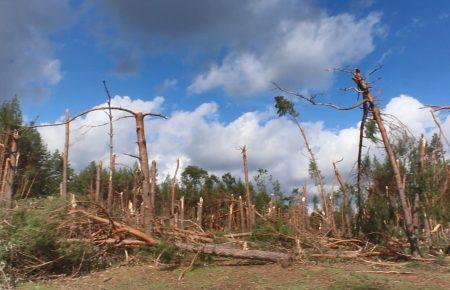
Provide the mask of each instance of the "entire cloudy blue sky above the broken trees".
[{"label": "entire cloudy blue sky above the broken trees", "polygon": [[[184,166],[240,175],[238,149],[247,144],[252,172],[266,168],[295,187],[308,162],[295,127],[276,117],[272,82],[352,104],[357,94],[341,90],[350,76],[329,69],[383,65],[370,77],[380,106],[429,136],[434,123],[421,107],[450,104],[448,31],[444,0],[5,0],[0,96],[18,95],[28,121],[56,122],[65,109],[104,103],[106,80],[115,104],[171,117],[146,122],[160,172],[180,157]],[[330,182],[333,159],[344,158],[350,178],[361,112],[297,109]],[[104,115],[74,123],[76,169],[107,160],[106,128],[89,127]],[[440,118],[450,135],[450,120]],[[119,161],[129,165],[133,124],[116,126]],[[62,130],[40,130],[49,149],[62,147]]]}]

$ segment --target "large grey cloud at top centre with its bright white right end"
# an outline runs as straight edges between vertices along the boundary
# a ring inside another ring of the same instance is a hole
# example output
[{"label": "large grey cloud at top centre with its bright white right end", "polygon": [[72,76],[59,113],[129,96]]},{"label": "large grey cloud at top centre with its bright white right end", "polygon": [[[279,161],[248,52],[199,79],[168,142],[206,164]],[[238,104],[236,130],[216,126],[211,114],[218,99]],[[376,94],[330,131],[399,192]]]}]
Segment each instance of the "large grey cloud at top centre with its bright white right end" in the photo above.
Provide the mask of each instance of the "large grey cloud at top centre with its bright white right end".
[{"label": "large grey cloud at top centre with its bright white right end", "polygon": [[147,52],[183,48],[189,56],[216,51],[219,60],[194,77],[191,93],[221,88],[233,95],[256,95],[271,81],[321,89],[330,83],[326,68],[364,58],[382,30],[379,14],[328,15],[308,0],[101,3],[100,10],[117,29],[111,43],[122,50],[126,46],[120,42]]}]

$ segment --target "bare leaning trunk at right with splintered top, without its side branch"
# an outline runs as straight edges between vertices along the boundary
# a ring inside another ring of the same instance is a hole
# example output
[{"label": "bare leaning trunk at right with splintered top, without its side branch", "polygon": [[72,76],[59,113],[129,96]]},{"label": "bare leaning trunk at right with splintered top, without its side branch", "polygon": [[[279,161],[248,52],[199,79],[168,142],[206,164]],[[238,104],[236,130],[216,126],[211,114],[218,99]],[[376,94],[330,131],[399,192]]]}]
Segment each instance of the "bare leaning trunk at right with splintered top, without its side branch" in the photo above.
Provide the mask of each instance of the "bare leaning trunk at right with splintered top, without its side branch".
[{"label": "bare leaning trunk at right with splintered top, without its side branch", "polygon": [[380,131],[381,139],[383,141],[384,148],[386,149],[386,153],[388,155],[389,162],[391,164],[392,171],[394,174],[395,184],[396,184],[397,190],[398,190],[400,206],[401,206],[401,210],[403,213],[403,219],[404,219],[405,233],[406,233],[408,242],[411,247],[411,252],[413,253],[413,255],[418,255],[419,254],[419,246],[418,246],[418,241],[417,241],[416,229],[414,228],[411,211],[409,210],[409,207],[408,207],[408,200],[406,198],[405,186],[402,181],[402,176],[400,174],[399,165],[396,161],[397,158],[395,156],[394,149],[392,148],[392,146],[389,142],[389,137],[388,137],[386,128],[384,126],[383,119],[381,118],[380,110],[378,109],[378,106],[375,103],[375,99],[374,99],[372,93],[370,92],[369,86],[367,85],[364,78],[361,76],[361,72],[359,69],[355,69],[355,72],[353,74],[353,81],[358,86],[359,91],[362,92],[366,103],[369,104],[369,109],[372,111],[373,119],[375,120],[377,127]]}]

